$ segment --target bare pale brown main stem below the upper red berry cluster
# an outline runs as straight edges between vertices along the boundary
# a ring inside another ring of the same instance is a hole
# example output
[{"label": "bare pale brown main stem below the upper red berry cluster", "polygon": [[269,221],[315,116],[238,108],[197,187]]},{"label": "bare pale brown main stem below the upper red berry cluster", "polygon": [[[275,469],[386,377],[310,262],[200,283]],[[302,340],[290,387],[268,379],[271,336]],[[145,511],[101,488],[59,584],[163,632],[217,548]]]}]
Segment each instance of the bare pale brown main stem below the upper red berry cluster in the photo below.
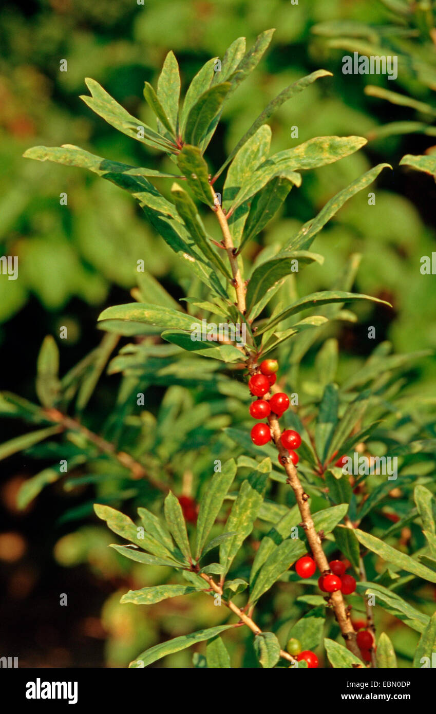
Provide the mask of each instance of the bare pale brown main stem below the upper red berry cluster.
[{"label": "bare pale brown main stem below the upper red berry cluster", "polygon": [[[297,469],[293,465],[292,461],[290,461],[288,451],[283,447],[280,441],[281,431],[277,416],[272,413],[268,417],[268,422],[270,424],[271,433],[273,434],[273,441],[275,443],[275,446],[278,448],[278,452],[280,453],[280,456],[283,460],[283,466],[285,467],[286,476],[288,476],[288,483],[290,484],[291,488],[293,489],[293,492],[295,493],[295,498],[303,522],[303,528],[305,530],[306,537],[308,538],[308,543],[310,545],[310,549],[312,550],[313,558],[315,559],[315,563],[318,565],[320,573],[322,575],[327,575],[331,571],[328,565],[328,560],[325,557],[320,536],[315,530],[315,525],[313,523],[312,514],[310,513],[310,507],[308,504],[308,495],[307,493],[305,493],[304,488],[300,483],[300,478],[298,478]],[[353,655],[356,655],[358,657],[358,660],[360,661],[360,650],[356,643],[356,635],[353,625],[351,624],[350,613],[345,607],[343,595],[340,590],[337,590],[335,593],[330,594],[330,603],[335,612],[335,618],[338,622],[340,631],[345,640],[345,645],[350,650],[350,652],[353,653]]]}]

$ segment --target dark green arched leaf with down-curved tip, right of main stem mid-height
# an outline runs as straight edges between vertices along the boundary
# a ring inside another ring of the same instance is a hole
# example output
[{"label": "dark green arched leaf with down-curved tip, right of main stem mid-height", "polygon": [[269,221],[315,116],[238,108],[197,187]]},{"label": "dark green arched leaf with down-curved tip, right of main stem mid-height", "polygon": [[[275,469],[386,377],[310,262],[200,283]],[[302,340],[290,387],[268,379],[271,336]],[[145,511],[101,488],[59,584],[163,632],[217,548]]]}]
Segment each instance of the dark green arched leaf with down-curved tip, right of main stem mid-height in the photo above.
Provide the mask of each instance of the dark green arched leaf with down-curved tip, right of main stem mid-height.
[{"label": "dark green arched leaf with down-curved tip, right of main stem mid-height", "polygon": [[323,256],[317,253],[309,253],[308,251],[297,251],[287,258],[272,258],[270,261],[260,263],[258,268],[255,268],[253,275],[250,276],[248,283],[246,305],[247,314],[253,313],[254,316],[259,313],[258,303],[261,302],[262,308],[268,303],[268,293],[271,297],[275,292],[275,287],[278,283],[283,283],[283,278],[290,275],[295,268],[295,262],[303,264],[317,262],[322,265]]}]

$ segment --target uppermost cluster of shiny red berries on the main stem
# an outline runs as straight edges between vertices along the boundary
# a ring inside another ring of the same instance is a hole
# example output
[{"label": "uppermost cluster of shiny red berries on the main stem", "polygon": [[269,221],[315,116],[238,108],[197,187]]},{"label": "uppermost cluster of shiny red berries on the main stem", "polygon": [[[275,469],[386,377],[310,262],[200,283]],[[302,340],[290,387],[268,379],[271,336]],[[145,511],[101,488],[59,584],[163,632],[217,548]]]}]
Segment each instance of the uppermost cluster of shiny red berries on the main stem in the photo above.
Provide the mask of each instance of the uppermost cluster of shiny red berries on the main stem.
[{"label": "uppermost cluster of shiny red berries on the main stem", "polygon": [[[265,419],[270,416],[270,413],[276,414],[278,417],[289,407],[289,398],[284,392],[273,394],[268,401],[263,399],[266,393],[270,391],[270,386],[275,383],[275,373],[278,370],[278,361],[275,359],[265,359],[260,363],[260,373],[253,374],[248,381],[248,388],[253,396],[258,399],[250,404],[250,416],[253,419]],[[271,430],[268,424],[255,424],[251,430],[251,441],[256,446],[265,446],[271,440]],[[298,454],[294,449],[298,448],[301,443],[300,434],[293,429],[285,429],[280,436],[282,446],[289,452],[290,461],[296,466],[298,463]],[[283,466],[282,457],[278,456],[278,462]]]}]

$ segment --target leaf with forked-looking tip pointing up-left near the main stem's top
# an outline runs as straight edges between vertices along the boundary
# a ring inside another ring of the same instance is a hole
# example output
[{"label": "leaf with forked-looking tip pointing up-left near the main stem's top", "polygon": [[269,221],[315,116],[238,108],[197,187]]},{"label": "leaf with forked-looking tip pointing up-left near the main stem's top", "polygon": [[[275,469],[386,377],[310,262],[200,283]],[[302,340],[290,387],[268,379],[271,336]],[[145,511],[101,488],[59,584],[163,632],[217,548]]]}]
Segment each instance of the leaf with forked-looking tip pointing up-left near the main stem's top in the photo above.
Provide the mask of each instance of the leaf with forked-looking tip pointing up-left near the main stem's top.
[{"label": "leaf with forked-looking tip pointing up-left near the main stem's top", "polygon": [[[121,104],[118,104],[95,79],[86,77],[85,83],[92,96],[82,95],[81,99],[108,124],[127,134],[131,139],[141,141],[142,144],[153,146],[154,149],[161,149],[161,151],[171,151],[171,144],[164,136],[157,134],[140,119],[128,114],[128,111],[123,109]],[[143,130],[143,136],[141,136],[142,132],[138,132],[139,127]]]}]

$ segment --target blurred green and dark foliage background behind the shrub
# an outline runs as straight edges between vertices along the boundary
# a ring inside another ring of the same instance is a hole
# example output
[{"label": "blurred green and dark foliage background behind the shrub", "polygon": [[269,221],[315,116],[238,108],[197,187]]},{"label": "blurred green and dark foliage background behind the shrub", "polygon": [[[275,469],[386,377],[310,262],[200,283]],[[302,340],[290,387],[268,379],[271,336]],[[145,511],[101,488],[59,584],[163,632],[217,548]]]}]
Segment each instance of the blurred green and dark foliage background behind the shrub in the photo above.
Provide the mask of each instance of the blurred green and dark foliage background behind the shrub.
[{"label": "blurred green and dark foliage background behind the shrub", "polygon": [[[270,51],[225,107],[207,152],[213,168],[270,99],[293,79],[321,67],[334,76],[310,86],[269,122],[272,151],[318,135],[365,136],[392,117],[407,118],[409,110],[365,96],[365,76],[351,81],[341,73],[343,52],[332,51],[311,31],[315,24],[335,19],[380,24],[389,21],[389,14],[377,0],[300,0],[298,5],[288,0],[146,0],[144,5],[134,0],[36,0],[3,5],[0,253],[19,256],[19,280],[0,276],[1,388],[34,398],[36,354],[46,333],[56,336],[61,325],[69,326],[69,340],[61,345],[64,370],[96,346],[101,338],[96,317],[105,306],[131,301],[139,258],[175,298],[180,296],[179,286],[188,288],[191,281],[129,196],[79,169],[21,158],[29,146],[68,143],[109,159],[171,171],[168,159],[92,114],[78,98],[86,93],[83,79],[96,79],[128,111],[152,124],[143,82],[156,86],[168,50],[178,58],[186,87],[200,66],[211,56],[223,56],[236,37],[246,36],[252,44],[261,31],[275,27]],[[68,61],[66,72],[59,71],[61,59]],[[390,84],[385,82],[385,87],[392,89]],[[401,91],[401,86],[425,101],[432,94],[412,79],[400,81],[395,89]],[[293,126],[298,126],[298,140],[290,138]],[[436,250],[435,183],[430,176],[398,169],[404,154],[423,153],[432,141],[423,135],[390,136],[370,142],[339,164],[312,172],[248,249],[248,258],[255,258],[260,244],[283,243],[353,178],[379,161],[392,164],[393,173],[383,172],[377,188],[371,189],[375,206],[364,210],[367,193],[355,196],[316,240],[315,250],[325,255],[324,266],[314,266],[299,277],[302,291],[324,289],[330,286],[325,276],[333,279],[350,253],[360,252],[363,260],[355,290],[392,303],[393,311],[362,311],[363,324],[344,327],[338,335],[347,373],[366,354],[362,336],[368,325],[376,326],[377,342],[388,338],[397,351],[436,346],[435,280],[423,277],[419,269],[420,257]],[[68,207],[60,205],[62,192],[68,195]],[[425,381],[429,391],[434,389],[435,364],[426,361],[415,377]],[[104,410],[114,382],[116,377],[103,379],[99,396],[91,403],[96,413]],[[157,408],[159,391],[155,398]],[[10,425],[4,430],[12,435]],[[41,496],[25,517],[17,513],[14,493],[36,470],[30,459],[24,463],[16,458],[6,466],[0,558],[11,624],[2,633],[3,649],[14,648],[24,601],[31,603],[34,620],[40,623],[35,625],[29,613],[29,621],[24,618],[19,625],[29,665],[125,666],[139,650],[160,639],[222,621],[220,608],[201,595],[183,605],[178,600],[155,605],[147,618],[142,608],[119,605],[126,585],[157,583],[161,570],[121,563],[118,554],[106,548],[111,535],[95,519],[84,526],[74,523],[73,532],[71,523],[54,529],[69,498],[60,489]],[[11,541],[9,550],[2,545],[2,539],[7,545],[5,537],[15,538],[12,560]],[[293,587],[297,593],[298,586]],[[50,621],[46,599],[56,600],[58,591],[71,593],[69,623],[64,615]],[[278,590],[274,601],[266,604],[267,620],[268,608],[270,617],[279,613],[283,623],[297,615],[289,595],[292,591]],[[403,628],[400,648],[407,650],[405,638],[414,636]],[[392,639],[395,642],[395,635]],[[252,656],[248,647],[248,662]],[[167,658],[165,665],[187,666],[191,657],[181,652]]]}]

